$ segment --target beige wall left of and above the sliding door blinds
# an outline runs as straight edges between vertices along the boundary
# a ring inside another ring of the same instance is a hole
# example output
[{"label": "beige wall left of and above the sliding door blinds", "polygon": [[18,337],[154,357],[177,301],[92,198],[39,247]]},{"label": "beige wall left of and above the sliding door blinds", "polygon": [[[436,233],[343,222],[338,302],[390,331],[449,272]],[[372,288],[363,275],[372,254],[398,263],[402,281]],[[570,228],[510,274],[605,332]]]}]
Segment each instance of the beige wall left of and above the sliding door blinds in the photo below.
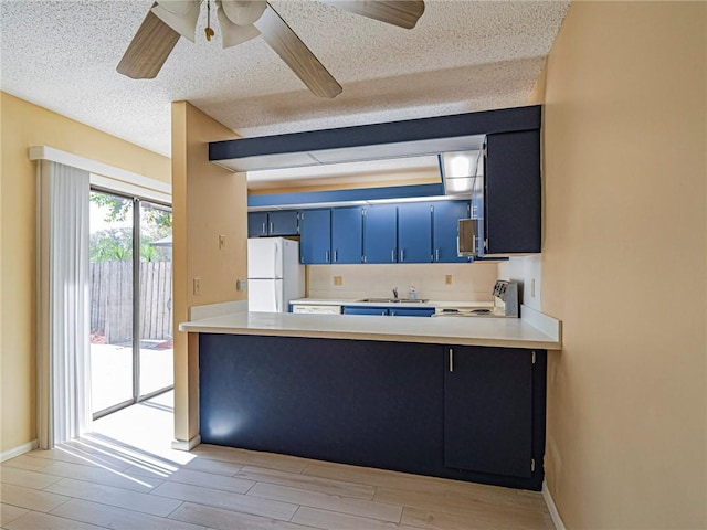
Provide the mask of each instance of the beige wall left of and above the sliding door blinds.
[{"label": "beige wall left of and above the sliding door blinds", "polygon": [[44,108],[0,93],[0,451],[36,438],[35,162],[31,146],[51,146],[169,182],[169,159]]}]

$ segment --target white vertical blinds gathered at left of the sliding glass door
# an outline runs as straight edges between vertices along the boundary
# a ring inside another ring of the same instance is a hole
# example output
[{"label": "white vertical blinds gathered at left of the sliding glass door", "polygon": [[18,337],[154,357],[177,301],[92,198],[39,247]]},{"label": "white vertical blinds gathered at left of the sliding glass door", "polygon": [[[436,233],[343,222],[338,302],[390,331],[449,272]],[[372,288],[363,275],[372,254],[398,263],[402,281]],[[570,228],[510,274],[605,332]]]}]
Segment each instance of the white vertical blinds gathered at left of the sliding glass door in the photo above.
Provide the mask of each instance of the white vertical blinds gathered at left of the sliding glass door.
[{"label": "white vertical blinds gathered at left of the sliding glass door", "polygon": [[91,184],[48,160],[38,172],[38,431],[49,449],[91,428]]}]

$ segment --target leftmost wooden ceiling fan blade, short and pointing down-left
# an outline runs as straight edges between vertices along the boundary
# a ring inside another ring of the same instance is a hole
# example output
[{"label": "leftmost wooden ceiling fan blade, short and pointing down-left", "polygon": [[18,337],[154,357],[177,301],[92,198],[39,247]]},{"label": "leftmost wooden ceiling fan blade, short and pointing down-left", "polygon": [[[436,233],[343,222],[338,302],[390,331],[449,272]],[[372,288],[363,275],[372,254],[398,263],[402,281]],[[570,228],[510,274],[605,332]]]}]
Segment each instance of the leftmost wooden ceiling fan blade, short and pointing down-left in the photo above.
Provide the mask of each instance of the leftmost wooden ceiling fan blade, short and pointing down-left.
[{"label": "leftmost wooden ceiling fan blade, short and pointing down-left", "polygon": [[178,40],[179,33],[148,11],[116,70],[134,80],[151,80]]}]

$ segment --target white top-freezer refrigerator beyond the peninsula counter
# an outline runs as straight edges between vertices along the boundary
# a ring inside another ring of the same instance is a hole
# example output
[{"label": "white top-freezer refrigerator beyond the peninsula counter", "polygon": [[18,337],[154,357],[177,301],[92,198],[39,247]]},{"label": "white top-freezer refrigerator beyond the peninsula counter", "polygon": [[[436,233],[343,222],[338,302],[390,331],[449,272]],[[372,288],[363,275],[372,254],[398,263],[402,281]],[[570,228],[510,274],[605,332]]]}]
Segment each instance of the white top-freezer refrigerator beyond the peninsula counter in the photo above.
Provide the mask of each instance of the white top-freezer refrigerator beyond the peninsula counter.
[{"label": "white top-freezer refrigerator beyond the peninsula counter", "polygon": [[247,240],[249,311],[287,312],[289,300],[305,296],[299,243],[283,237]]}]

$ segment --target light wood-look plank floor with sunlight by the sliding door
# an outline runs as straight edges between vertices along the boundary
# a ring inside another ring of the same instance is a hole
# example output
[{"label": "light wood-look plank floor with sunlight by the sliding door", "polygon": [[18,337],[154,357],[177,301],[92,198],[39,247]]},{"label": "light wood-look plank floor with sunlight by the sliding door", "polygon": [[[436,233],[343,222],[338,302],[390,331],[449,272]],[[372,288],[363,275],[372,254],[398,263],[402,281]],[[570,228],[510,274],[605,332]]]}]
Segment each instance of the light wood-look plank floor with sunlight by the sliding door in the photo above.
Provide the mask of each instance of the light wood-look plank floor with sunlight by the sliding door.
[{"label": "light wood-look plank floor with sunlight by the sliding door", "polygon": [[0,466],[3,529],[553,529],[540,494],[201,445],[169,396]]}]

